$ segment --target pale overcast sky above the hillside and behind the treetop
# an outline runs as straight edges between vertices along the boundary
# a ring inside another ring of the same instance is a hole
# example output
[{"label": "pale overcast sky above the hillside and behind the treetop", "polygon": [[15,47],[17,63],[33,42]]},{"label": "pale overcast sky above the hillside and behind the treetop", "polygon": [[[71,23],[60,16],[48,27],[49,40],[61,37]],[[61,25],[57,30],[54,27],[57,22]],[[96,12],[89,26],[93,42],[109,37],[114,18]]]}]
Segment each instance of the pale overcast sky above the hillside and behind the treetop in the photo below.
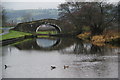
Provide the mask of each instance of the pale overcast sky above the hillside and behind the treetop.
[{"label": "pale overcast sky above the hillside and behind the treetop", "polygon": [[[79,0],[84,1],[84,0]],[[110,0],[111,2],[118,2],[119,0]],[[65,0],[2,0],[2,6],[6,9],[48,9],[57,8],[58,4],[65,2]]]}]

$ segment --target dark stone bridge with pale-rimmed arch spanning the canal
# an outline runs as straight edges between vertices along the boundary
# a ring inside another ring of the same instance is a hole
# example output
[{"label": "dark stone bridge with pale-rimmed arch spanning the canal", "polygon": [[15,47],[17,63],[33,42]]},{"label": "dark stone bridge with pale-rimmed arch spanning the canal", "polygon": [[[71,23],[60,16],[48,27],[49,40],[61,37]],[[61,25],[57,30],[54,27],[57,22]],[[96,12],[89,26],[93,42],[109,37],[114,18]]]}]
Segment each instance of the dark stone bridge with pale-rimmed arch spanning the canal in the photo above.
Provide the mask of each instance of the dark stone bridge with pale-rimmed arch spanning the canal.
[{"label": "dark stone bridge with pale-rimmed arch spanning the canal", "polygon": [[67,33],[67,32],[73,32],[74,31],[74,27],[70,23],[55,20],[55,19],[43,19],[43,20],[19,23],[14,28],[14,30],[34,33],[34,32],[36,32],[37,28],[40,25],[43,25],[43,24],[47,24],[47,25],[50,25],[50,26],[54,27],[57,30],[58,33]]}]

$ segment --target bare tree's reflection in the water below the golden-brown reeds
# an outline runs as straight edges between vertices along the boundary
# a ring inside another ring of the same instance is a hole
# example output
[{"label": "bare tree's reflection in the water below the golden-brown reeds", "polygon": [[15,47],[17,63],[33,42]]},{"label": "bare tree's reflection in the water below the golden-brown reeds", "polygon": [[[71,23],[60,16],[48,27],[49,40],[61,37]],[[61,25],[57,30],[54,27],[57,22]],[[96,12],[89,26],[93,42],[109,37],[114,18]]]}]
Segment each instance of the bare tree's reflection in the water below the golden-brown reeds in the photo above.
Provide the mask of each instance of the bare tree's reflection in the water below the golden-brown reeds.
[{"label": "bare tree's reflection in the water below the golden-brown reeds", "polygon": [[99,54],[102,55],[105,52],[104,47],[99,47],[92,44],[86,44],[82,42],[75,42],[73,47],[62,49],[62,53],[73,53],[73,54]]}]

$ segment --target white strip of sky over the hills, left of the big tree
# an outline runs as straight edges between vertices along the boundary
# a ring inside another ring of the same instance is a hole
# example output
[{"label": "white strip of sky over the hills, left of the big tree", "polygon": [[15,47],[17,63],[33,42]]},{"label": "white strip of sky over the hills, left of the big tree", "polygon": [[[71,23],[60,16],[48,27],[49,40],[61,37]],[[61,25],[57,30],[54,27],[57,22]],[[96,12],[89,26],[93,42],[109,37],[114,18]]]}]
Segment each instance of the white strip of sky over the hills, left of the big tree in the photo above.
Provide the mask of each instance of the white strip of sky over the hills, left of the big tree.
[{"label": "white strip of sky over the hills, left of the big tree", "polygon": [[21,10],[21,9],[53,9],[57,8],[59,2],[5,2],[2,3],[6,9]]}]

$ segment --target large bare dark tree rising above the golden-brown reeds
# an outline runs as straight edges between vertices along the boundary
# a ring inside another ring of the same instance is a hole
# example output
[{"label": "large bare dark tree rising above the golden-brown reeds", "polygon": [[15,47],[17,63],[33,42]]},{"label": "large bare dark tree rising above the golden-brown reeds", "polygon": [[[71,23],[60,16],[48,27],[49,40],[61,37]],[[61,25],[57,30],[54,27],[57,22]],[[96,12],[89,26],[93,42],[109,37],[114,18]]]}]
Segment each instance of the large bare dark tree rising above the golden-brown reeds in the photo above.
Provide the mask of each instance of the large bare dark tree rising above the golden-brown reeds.
[{"label": "large bare dark tree rising above the golden-brown reeds", "polygon": [[59,5],[60,20],[67,20],[82,32],[83,26],[89,26],[92,35],[102,34],[116,20],[117,6],[107,2],[65,2]]}]

